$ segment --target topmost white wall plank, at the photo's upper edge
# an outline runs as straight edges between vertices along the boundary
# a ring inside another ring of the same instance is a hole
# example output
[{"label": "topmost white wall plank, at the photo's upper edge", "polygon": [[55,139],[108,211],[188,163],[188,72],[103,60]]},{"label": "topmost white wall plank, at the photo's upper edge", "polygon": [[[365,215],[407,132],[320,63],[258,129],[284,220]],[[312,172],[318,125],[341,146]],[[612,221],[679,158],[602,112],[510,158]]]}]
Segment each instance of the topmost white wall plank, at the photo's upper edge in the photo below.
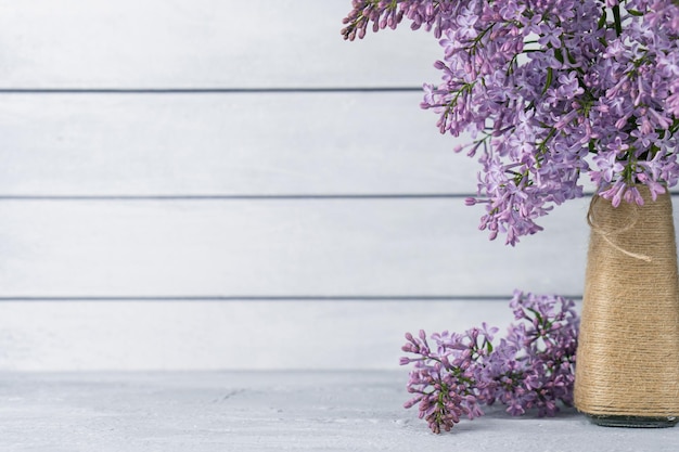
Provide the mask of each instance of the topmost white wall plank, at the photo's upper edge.
[{"label": "topmost white wall plank, at the photo's upper edge", "polygon": [[435,81],[435,38],[345,42],[348,0],[0,4],[0,88],[401,87]]}]

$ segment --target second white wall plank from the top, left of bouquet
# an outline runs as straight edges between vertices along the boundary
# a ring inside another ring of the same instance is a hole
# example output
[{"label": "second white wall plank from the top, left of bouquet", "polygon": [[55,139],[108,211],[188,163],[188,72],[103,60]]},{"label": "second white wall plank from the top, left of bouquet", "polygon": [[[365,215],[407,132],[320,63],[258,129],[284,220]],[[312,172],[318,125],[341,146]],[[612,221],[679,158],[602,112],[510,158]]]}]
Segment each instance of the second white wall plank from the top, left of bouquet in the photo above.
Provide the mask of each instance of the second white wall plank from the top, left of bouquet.
[{"label": "second white wall plank from the top, left of bouquet", "polygon": [[0,95],[0,194],[475,192],[420,98]]}]

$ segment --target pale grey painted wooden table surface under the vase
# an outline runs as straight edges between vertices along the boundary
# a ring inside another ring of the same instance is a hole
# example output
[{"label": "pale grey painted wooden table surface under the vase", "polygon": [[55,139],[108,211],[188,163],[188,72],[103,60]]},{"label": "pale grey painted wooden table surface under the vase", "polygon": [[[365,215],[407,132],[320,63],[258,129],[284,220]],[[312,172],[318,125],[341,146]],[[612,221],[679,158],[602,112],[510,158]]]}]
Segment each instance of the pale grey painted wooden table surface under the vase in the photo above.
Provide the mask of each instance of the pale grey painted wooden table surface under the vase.
[{"label": "pale grey painted wooden table surface under the vase", "polygon": [[679,428],[501,406],[430,432],[406,372],[0,374],[0,451],[676,451]]}]

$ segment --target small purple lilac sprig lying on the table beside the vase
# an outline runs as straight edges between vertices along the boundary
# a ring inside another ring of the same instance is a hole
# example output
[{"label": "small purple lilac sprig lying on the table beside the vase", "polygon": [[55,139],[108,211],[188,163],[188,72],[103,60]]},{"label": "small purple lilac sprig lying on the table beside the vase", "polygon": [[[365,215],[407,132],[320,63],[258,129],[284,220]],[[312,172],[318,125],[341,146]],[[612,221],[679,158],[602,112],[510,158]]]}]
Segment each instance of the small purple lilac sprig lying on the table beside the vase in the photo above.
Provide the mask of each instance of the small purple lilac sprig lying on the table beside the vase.
[{"label": "small purple lilac sprig lying on the table beside the vase", "polygon": [[427,340],[421,331],[402,350],[401,365],[414,364],[406,408],[418,405],[432,431],[449,431],[462,416],[483,415],[481,405],[496,401],[507,412],[522,415],[537,409],[553,416],[558,401],[573,403],[575,353],[579,318],[574,301],[559,296],[515,292],[510,302],[520,323],[494,344],[498,328],[485,323],[464,334],[436,333]]}]

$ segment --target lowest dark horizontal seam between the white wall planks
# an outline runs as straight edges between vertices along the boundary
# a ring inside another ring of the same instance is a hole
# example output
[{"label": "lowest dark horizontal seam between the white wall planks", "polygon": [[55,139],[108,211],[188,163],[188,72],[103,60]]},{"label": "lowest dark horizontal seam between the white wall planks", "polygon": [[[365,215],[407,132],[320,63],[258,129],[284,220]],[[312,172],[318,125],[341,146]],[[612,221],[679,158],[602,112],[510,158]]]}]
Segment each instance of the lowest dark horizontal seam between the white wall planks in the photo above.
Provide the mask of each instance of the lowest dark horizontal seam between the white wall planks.
[{"label": "lowest dark horizontal seam between the white wall planks", "polygon": [[[565,295],[581,299],[581,295]],[[3,296],[3,301],[499,301],[512,295],[185,295],[185,296]]]}]

